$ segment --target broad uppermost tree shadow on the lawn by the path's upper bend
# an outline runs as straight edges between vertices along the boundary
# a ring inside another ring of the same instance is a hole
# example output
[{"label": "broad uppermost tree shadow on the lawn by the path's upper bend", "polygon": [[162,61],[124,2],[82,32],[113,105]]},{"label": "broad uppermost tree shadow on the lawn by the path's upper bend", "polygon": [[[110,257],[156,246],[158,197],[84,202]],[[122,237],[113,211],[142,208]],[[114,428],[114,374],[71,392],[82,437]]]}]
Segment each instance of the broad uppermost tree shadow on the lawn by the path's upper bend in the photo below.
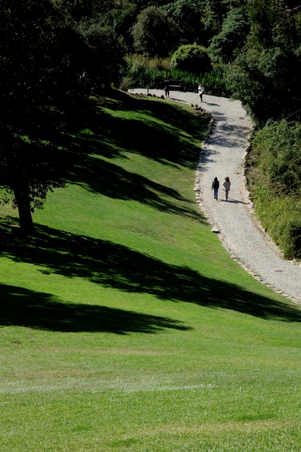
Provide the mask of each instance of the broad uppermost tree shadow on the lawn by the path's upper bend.
[{"label": "broad uppermost tree shadow on the lawn by the path's upper bend", "polygon": [[109,159],[131,152],[164,165],[196,167],[207,117],[115,90],[108,95],[72,118],[74,141],[85,152]]}]

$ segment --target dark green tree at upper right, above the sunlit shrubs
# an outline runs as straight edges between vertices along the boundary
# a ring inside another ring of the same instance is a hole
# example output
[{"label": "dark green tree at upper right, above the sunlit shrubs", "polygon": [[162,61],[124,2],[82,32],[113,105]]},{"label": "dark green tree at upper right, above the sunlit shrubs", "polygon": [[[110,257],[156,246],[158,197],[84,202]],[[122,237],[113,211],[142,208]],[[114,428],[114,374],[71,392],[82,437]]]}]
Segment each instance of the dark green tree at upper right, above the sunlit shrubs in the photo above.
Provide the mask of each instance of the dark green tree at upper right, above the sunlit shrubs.
[{"label": "dark green tree at upper right, above the sunlit shrubs", "polygon": [[301,102],[301,11],[281,0],[248,4],[251,33],[229,73],[232,92],[254,121],[299,120]]}]

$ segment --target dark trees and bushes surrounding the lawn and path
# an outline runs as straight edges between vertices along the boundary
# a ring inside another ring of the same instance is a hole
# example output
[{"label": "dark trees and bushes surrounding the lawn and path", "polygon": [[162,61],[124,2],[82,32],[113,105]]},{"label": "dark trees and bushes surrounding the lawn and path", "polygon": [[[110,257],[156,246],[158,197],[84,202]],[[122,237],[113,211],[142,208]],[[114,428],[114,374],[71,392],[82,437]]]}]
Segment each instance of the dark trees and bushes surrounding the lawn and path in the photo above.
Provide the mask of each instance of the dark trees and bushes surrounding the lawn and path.
[{"label": "dark trees and bushes surrounding the lawn and path", "polygon": [[75,105],[97,89],[181,78],[196,90],[202,79],[251,115],[248,179],[257,213],[285,257],[301,258],[301,8],[294,1],[4,0],[1,10],[0,180],[3,202],[18,207],[24,230],[82,158],[68,137]]}]

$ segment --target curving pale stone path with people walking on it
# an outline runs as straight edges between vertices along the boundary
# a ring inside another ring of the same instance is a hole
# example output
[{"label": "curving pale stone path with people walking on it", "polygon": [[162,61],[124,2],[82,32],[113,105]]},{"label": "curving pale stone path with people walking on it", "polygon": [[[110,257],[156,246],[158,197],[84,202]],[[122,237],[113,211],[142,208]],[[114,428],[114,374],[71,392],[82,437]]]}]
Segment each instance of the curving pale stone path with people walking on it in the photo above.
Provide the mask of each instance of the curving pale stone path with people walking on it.
[{"label": "curving pale stone path with people walking on it", "polygon": [[[135,89],[131,92],[146,90]],[[149,90],[162,95],[162,90]],[[220,231],[219,237],[238,258],[244,268],[263,284],[284,293],[294,301],[301,301],[301,267],[282,259],[275,245],[268,240],[252,214],[248,193],[243,178],[243,162],[251,121],[238,100],[203,95],[203,102],[197,93],[171,91],[170,98],[185,103],[202,105],[209,111],[215,126],[200,155],[196,173],[197,198],[201,196],[203,210],[210,222]],[[219,189],[216,201],[211,191],[213,178],[217,176],[220,186],[225,176],[230,177],[231,191],[228,202],[224,191]],[[200,193],[200,194],[198,194]],[[197,199],[198,200],[198,199]],[[199,200],[200,201],[200,200]]]}]

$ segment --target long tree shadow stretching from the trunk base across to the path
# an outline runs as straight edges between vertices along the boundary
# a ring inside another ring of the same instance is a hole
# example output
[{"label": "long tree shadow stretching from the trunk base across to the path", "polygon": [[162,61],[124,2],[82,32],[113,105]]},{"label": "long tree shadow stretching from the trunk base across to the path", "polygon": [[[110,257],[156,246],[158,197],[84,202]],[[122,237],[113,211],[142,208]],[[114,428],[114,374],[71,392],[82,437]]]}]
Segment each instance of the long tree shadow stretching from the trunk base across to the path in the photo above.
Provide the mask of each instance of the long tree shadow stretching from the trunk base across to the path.
[{"label": "long tree shadow stretching from the trunk base across to the path", "polygon": [[235,284],[167,264],[109,241],[77,236],[45,226],[23,238],[3,227],[0,256],[35,264],[44,274],[87,279],[125,292],[147,293],[161,300],[232,309],[266,319],[301,321],[298,308],[251,293]]}]

